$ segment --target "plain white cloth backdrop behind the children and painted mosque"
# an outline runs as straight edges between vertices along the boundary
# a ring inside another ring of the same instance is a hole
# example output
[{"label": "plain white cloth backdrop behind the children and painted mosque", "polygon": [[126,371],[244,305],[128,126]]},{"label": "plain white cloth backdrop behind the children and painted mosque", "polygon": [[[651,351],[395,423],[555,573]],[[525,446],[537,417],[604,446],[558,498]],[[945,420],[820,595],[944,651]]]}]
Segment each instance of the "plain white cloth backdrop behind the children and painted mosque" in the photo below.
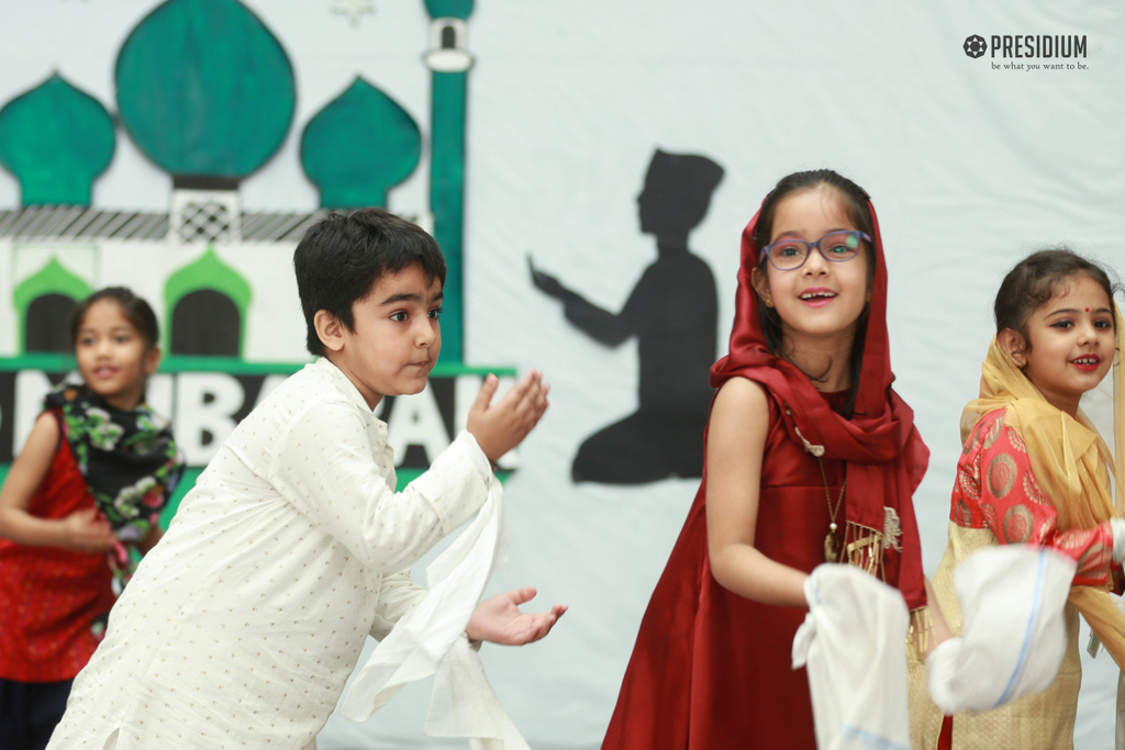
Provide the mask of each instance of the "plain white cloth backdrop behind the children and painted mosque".
[{"label": "plain white cloth backdrop behind the children and painted mosque", "polygon": [[[308,210],[316,193],[297,144],[308,117],[357,73],[429,132],[421,0],[372,0],[352,25],[338,0],[245,0],[298,78],[297,126],[242,187],[249,209]],[[0,0],[0,101],[57,70],[112,108],[112,62],[154,0]],[[363,3],[356,3],[362,6]],[[726,177],[691,247],[719,284],[720,341],[734,311],[739,233],[783,174],[830,166],[866,188],[890,266],[898,388],[933,450],[916,501],[926,568],[945,543],[957,418],[975,395],[991,300],[1007,268],[1066,243],[1125,269],[1125,6],[1116,0],[479,0],[469,20],[466,361],[541,368],[552,407],[505,494],[511,568],[493,589],[532,584],[572,609],[544,642],[486,645],[490,680],[536,748],[601,740],[638,623],[695,482],[574,486],[570,461],[636,408],[636,347],[609,350],[536,291],[526,256],[610,309],[656,257],[636,197],[656,147],[704,154]],[[1086,36],[1073,70],[1008,70],[965,37]],[[998,65],[1000,67],[998,67]],[[426,163],[392,192],[424,208]],[[170,180],[119,138],[98,207],[165,210]],[[18,186],[0,172],[0,207]],[[7,259],[0,259],[7,265]],[[279,268],[279,273],[288,272]],[[291,293],[291,281],[280,284]],[[10,302],[0,331],[14,331]],[[288,319],[294,319],[291,316]],[[4,333],[4,336],[8,334]],[[249,342],[303,359],[303,331]],[[282,343],[277,340],[281,338]],[[10,351],[12,342],[0,342]],[[717,352],[718,354],[718,352]],[[424,564],[424,562],[423,562]],[[418,571],[421,572],[420,566]],[[1084,665],[1077,746],[1110,748],[1116,675]],[[438,747],[421,738],[425,688],[367,724],[334,717],[323,748]]]}]

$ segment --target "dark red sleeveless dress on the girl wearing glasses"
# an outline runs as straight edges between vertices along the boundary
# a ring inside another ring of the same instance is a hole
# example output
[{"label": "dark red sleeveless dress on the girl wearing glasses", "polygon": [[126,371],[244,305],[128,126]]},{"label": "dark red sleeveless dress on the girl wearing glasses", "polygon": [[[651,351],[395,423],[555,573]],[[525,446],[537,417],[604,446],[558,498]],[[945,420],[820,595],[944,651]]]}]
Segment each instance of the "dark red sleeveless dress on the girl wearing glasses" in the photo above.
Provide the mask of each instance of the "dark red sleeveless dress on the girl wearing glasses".
[{"label": "dark red sleeveless dress on the girl wearing glasses", "polygon": [[[824,466],[835,503],[844,463]],[[792,669],[806,611],[752,602],[714,580],[704,500],[701,487],[641,621],[602,750],[814,750],[808,676]],[[836,517],[843,527],[845,508]],[[825,561],[828,524],[817,460],[790,439],[771,398],[755,546],[811,572]]]}]

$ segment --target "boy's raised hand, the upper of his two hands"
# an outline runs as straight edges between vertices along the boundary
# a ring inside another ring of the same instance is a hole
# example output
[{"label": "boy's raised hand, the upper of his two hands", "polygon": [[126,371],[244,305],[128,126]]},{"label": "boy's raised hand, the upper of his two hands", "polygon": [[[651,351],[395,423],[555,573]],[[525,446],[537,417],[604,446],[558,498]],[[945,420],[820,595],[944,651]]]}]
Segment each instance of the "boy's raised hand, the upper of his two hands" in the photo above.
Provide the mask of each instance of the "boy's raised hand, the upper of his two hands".
[{"label": "boy's raised hand, the upper of his two hands", "polygon": [[494,406],[492,397],[497,385],[496,376],[485,378],[477,400],[469,409],[466,425],[493,463],[523,442],[539,423],[539,417],[547,410],[547,392],[550,390],[550,386],[543,385],[542,374],[532,370]]}]

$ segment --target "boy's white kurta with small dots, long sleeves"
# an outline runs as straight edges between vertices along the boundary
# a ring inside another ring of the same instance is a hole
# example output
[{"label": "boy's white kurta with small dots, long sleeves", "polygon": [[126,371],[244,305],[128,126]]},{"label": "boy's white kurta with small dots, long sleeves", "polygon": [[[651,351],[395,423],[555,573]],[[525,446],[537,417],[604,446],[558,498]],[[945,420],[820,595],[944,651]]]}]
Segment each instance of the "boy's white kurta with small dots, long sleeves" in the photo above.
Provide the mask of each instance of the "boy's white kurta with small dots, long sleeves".
[{"label": "boy's white kurta with small dots, long sleeves", "polygon": [[461,433],[396,494],[386,425],[327,360],[305,367],[183,499],[48,747],[314,748],[368,633],[424,596],[406,569],[489,476]]}]

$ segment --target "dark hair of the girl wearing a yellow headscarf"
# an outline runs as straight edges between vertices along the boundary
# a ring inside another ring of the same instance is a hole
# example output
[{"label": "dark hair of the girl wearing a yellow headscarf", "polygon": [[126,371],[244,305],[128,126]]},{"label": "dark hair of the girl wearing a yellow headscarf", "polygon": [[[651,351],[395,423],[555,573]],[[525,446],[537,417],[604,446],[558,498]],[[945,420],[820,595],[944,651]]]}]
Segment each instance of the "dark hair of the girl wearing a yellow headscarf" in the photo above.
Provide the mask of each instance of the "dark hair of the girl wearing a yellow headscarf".
[{"label": "dark hair of the girl wearing a yellow headscarf", "polygon": [[1114,292],[1120,290],[1120,283],[1112,281],[1104,268],[1088,261],[1069,247],[1053,247],[1032,253],[1016,263],[1008,275],[1000,282],[996,292],[996,304],[992,311],[996,315],[996,332],[1011,328],[1024,337],[1027,336],[1027,320],[1040,307],[1051,301],[1060,284],[1078,274],[1086,274],[1106,290],[1109,298],[1109,311],[1114,314],[1114,326],[1117,325],[1117,304]]}]

